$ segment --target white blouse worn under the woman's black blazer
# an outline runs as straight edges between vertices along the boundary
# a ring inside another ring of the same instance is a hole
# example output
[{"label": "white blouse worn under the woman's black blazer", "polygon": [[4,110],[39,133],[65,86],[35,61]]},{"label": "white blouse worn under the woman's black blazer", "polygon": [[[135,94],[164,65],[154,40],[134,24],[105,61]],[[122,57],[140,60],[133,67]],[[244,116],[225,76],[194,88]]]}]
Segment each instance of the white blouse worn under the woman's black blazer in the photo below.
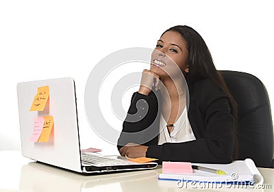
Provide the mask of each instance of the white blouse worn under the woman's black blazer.
[{"label": "white blouse worn under the woman's black blazer", "polygon": [[161,114],[160,135],[158,145],[162,145],[162,143],[180,143],[192,141],[195,139],[195,135],[193,134],[190,122],[188,120],[188,113],[186,111],[186,107],[184,108],[182,115],[175,122],[173,131],[171,131],[171,135],[169,135],[169,131],[166,127],[166,121],[164,120],[164,117]]}]

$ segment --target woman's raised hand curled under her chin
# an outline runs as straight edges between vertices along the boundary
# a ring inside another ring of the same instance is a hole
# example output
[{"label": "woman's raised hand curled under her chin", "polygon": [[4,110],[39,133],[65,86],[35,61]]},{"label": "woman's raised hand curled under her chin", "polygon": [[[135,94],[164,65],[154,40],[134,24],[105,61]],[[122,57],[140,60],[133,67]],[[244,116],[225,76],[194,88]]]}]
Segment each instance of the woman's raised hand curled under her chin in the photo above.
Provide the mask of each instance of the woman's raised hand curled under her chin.
[{"label": "woman's raised hand curled under her chin", "polygon": [[160,77],[158,74],[145,69],[142,71],[141,85],[138,92],[140,94],[149,95],[152,87],[155,87],[155,91],[159,89],[159,82]]}]

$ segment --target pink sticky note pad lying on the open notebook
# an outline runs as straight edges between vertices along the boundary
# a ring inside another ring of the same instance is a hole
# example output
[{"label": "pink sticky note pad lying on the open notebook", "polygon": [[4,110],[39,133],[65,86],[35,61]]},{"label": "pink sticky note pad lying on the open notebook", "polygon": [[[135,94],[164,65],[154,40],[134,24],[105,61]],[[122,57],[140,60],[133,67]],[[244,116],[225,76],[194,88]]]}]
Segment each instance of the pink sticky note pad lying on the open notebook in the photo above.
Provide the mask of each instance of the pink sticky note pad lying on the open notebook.
[{"label": "pink sticky note pad lying on the open notebook", "polygon": [[162,162],[163,174],[192,174],[190,162]]}]

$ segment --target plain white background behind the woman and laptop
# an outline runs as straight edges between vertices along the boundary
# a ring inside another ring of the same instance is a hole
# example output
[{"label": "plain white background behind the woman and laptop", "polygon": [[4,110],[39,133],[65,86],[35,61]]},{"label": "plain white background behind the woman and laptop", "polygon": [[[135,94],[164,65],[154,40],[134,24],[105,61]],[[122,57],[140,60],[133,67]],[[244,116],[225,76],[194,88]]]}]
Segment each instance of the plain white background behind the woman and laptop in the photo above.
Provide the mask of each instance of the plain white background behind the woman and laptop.
[{"label": "plain white background behind the woman and laptop", "polygon": [[[84,110],[88,75],[114,51],[135,46],[153,49],[162,32],[174,25],[196,29],[219,70],[256,75],[274,106],[272,4],[262,0],[0,1],[0,150],[21,150],[16,84],[73,77],[82,148],[116,153],[116,146],[103,141],[88,124]],[[122,70],[120,75],[126,74]],[[129,96],[125,99],[129,104]]]}]

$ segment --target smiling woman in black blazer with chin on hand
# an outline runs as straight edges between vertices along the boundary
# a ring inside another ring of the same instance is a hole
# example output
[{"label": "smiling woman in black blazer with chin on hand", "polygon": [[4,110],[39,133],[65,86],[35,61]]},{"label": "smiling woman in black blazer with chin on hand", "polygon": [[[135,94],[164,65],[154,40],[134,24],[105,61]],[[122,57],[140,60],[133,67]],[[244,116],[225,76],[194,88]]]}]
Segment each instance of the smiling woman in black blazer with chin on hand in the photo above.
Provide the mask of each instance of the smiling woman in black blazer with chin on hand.
[{"label": "smiling woman in black blazer with chin on hand", "polygon": [[119,152],[158,163],[230,163],[234,117],[236,102],[203,38],[191,27],[171,27],[158,40],[151,68],[142,72],[140,89],[132,96]]}]

